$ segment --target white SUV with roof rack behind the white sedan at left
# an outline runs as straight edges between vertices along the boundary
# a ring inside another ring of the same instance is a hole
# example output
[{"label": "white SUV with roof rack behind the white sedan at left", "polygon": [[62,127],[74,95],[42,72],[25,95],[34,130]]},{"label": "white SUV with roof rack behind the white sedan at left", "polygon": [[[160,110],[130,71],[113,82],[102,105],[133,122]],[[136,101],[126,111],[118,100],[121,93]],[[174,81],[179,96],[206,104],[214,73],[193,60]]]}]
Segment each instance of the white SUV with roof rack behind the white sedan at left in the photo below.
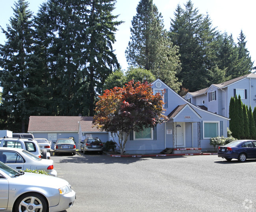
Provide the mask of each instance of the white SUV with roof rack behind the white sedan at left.
[{"label": "white SUV with roof rack behind the white sedan at left", "polygon": [[0,147],[13,147],[27,150],[37,157],[46,159],[46,152],[41,156],[41,150],[37,141],[33,139],[25,138],[0,138]]}]

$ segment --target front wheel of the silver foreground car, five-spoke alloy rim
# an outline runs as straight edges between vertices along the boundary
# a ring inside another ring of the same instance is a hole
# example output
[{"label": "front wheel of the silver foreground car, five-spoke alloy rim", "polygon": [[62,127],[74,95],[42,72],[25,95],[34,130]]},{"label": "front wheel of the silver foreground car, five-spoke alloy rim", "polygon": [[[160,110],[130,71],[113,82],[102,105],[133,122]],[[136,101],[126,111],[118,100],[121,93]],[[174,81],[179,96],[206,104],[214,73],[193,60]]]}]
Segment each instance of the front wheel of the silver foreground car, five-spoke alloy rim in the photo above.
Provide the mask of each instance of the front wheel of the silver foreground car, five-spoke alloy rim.
[{"label": "front wheel of the silver foreground car, five-spoke alloy rim", "polygon": [[15,204],[15,211],[35,211],[46,212],[47,203],[43,196],[39,194],[24,194],[20,196]]}]

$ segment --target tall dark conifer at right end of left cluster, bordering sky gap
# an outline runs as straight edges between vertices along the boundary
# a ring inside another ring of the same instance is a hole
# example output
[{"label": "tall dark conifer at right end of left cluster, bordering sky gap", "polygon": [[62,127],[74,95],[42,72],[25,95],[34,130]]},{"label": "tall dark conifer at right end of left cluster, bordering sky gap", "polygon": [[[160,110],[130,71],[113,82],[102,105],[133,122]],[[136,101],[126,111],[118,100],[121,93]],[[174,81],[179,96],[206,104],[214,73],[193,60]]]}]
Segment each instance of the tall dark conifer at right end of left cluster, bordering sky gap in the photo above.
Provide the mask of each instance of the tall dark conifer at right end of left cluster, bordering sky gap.
[{"label": "tall dark conifer at right end of left cluster, bordering sky gap", "polygon": [[94,114],[97,93],[102,88],[108,75],[114,68],[119,68],[112,44],[115,42],[116,26],[122,22],[113,21],[117,16],[111,13],[115,9],[116,0],[89,0],[87,8],[87,37],[84,53],[84,69],[86,82],[89,84],[89,115]]}]

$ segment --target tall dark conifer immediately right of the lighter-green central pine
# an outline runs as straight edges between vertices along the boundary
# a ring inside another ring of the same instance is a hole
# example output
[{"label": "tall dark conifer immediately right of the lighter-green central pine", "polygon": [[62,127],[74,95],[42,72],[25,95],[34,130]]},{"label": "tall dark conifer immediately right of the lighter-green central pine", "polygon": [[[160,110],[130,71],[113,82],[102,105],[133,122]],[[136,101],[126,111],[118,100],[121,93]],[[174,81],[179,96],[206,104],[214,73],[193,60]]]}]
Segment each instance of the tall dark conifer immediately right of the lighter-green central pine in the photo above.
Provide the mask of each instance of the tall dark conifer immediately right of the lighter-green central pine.
[{"label": "tall dark conifer immediately right of the lighter-green central pine", "polygon": [[185,9],[177,6],[169,36],[174,45],[179,46],[182,71],[177,76],[189,91],[207,86],[207,69],[213,66],[211,60],[215,57],[211,44],[216,35],[209,16],[203,16],[197,8],[194,9],[191,0],[187,1]]}]

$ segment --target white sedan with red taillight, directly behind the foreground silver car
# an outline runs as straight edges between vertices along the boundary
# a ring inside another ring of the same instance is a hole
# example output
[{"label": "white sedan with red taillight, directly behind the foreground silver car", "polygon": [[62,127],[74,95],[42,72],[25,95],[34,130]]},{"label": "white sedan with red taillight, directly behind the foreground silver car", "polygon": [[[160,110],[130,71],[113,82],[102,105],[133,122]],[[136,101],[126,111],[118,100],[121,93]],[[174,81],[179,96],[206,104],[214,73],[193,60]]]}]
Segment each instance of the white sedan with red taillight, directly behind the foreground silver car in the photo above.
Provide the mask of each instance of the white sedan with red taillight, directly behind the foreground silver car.
[{"label": "white sedan with red taillight, directly behind the foreground silver car", "polygon": [[17,171],[43,170],[52,176],[57,176],[53,160],[41,159],[23,149],[0,147],[0,161]]}]

